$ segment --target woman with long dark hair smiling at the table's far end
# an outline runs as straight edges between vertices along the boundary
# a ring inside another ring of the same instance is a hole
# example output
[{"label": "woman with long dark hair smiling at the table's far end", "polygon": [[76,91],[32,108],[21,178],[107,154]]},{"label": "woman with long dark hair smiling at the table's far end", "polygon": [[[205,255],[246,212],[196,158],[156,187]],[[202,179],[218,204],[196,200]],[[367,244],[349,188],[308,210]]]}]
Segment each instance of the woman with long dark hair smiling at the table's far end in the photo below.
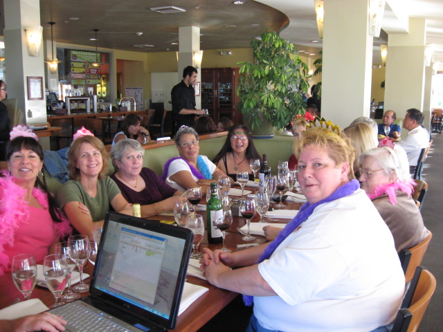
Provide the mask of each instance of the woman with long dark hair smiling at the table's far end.
[{"label": "woman with long dark hair smiling at the table's far end", "polygon": [[224,145],[213,159],[213,163],[234,181],[237,181],[237,172],[240,171],[248,171],[249,180],[254,181],[254,173],[249,166],[249,160],[255,158],[262,161],[255,149],[248,127],[237,124],[229,129]]}]

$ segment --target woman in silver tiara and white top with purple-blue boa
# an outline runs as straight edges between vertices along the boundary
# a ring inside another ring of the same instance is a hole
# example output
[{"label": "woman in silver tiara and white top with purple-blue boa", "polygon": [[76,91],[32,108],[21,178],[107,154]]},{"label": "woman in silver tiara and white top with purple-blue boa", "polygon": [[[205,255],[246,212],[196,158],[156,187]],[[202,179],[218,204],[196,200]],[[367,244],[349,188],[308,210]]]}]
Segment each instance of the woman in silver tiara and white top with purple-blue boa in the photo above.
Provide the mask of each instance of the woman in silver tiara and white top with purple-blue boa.
[{"label": "woman in silver tiara and white top with purple-blue boa", "polygon": [[184,192],[202,187],[201,192],[221,175],[221,170],[208,157],[200,156],[199,134],[191,127],[181,126],[174,136],[179,157],[171,158],[163,169],[163,180],[171,187]]}]

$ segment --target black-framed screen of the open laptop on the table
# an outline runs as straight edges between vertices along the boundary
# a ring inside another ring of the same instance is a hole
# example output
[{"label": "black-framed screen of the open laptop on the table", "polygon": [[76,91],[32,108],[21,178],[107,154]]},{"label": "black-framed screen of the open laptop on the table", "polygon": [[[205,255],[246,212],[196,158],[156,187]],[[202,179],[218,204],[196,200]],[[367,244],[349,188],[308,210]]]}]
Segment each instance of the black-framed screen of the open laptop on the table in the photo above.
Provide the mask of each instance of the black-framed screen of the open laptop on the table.
[{"label": "black-framed screen of the open laptop on the table", "polygon": [[144,311],[150,319],[176,320],[192,243],[183,230],[109,212],[91,293],[121,300],[124,308]]}]

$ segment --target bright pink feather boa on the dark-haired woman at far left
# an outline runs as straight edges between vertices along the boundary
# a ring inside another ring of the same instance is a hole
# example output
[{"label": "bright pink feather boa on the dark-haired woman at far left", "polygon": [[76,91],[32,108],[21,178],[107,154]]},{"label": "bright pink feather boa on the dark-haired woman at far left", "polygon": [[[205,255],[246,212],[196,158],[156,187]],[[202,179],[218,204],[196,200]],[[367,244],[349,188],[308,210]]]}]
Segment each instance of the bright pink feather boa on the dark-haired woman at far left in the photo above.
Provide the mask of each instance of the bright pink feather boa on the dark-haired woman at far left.
[{"label": "bright pink feather boa on the dark-haired woman at far left", "polygon": [[[5,246],[14,246],[15,231],[20,224],[29,218],[28,202],[25,199],[26,189],[14,182],[14,177],[3,172],[0,177],[0,275],[10,264],[10,257],[3,251]],[[45,210],[48,210],[46,193],[35,187],[33,196]],[[59,237],[71,234],[71,224],[62,215],[61,223],[53,223],[54,230]]]}]

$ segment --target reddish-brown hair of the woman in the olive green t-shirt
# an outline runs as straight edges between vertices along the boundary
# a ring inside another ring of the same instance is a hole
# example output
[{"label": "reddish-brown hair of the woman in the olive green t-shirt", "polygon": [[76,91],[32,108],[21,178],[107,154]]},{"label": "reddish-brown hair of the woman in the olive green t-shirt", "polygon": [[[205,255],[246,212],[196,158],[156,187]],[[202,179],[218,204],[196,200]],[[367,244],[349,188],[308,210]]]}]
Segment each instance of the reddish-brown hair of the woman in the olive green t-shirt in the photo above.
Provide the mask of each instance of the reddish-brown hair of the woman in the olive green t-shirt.
[{"label": "reddish-brown hair of the woman in the olive green t-shirt", "polygon": [[78,153],[83,143],[89,143],[93,147],[98,149],[98,151],[100,151],[100,154],[102,155],[103,166],[102,170],[100,171],[100,174],[98,174],[98,178],[99,179],[105,178],[105,176],[107,176],[108,173],[108,156],[105,145],[101,140],[99,140],[95,136],[90,136],[90,135],[77,138],[72,142],[71,147],[69,147],[68,151],[69,178],[71,180],[80,181],[80,169],[77,168],[77,161],[79,158]]}]

